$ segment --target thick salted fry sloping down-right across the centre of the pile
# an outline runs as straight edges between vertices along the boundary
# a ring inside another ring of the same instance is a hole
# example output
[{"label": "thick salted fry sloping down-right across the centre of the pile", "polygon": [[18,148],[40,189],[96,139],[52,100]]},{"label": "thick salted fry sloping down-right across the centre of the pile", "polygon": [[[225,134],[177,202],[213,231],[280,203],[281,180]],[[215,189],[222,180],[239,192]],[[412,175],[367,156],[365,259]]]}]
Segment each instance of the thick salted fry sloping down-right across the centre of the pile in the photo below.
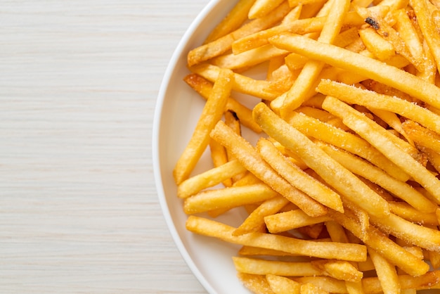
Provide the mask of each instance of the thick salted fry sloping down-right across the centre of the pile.
[{"label": "thick salted fry sloping down-right across the centre of the pile", "polygon": [[253,114],[254,120],[261,126],[261,129],[264,129],[269,136],[272,136],[290,150],[295,151],[312,170],[339,191],[344,198],[356,203],[359,207],[363,207],[369,214],[377,217],[389,215],[386,200],[330,158],[304,134],[278,117],[266,104],[257,104]]}]

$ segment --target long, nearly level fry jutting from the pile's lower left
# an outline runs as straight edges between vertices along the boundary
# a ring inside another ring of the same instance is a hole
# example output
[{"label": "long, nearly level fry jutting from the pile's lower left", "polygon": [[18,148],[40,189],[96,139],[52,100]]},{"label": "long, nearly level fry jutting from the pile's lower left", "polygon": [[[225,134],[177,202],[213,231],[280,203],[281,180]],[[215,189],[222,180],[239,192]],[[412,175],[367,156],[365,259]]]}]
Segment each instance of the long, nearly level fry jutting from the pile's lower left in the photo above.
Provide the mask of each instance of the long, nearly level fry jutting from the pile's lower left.
[{"label": "long, nearly level fry jutting from the pile's lower left", "polygon": [[307,241],[264,233],[233,236],[232,226],[190,215],[186,228],[195,234],[220,238],[229,243],[285,251],[296,255],[361,262],[366,260],[364,245]]}]

